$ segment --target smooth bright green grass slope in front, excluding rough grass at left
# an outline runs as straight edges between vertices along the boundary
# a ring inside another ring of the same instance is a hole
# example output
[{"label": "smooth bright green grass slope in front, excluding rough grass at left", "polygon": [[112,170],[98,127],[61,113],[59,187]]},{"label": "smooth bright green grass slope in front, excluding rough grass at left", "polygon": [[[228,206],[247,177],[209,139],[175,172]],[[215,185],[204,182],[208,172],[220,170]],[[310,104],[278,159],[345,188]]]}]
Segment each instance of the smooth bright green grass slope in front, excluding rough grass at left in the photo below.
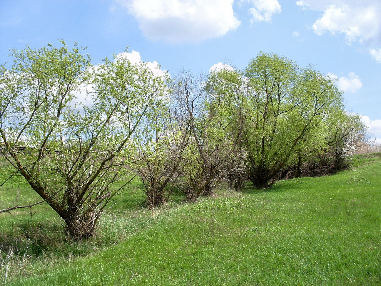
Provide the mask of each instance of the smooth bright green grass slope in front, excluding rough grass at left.
[{"label": "smooth bright green grass slope in front, excluding rough grass at left", "polygon": [[381,158],[353,164],[371,184],[348,170],[222,192],[145,217],[103,251],[32,265],[13,283],[381,285]]}]

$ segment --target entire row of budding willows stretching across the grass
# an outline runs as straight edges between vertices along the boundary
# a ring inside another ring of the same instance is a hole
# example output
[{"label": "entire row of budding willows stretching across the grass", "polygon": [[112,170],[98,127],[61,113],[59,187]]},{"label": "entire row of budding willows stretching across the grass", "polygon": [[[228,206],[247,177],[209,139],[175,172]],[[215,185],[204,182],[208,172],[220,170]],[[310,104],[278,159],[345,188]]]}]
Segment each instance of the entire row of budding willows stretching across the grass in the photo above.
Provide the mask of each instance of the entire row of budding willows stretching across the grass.
[{"label": "entire row of budding willows stretching across the grass", "polygon": [[[61,43],[13,50],[1,66],[1,153],[75,239],[94,235],[136,175],[148,206],[174,190],[196,201],[221,180],[266,188],[305,164],[340,169],[366,137],[332,79],[282,56],[171,78],[125,53],[92,66]],[[84,87],[91,104],[77,98]]]}]

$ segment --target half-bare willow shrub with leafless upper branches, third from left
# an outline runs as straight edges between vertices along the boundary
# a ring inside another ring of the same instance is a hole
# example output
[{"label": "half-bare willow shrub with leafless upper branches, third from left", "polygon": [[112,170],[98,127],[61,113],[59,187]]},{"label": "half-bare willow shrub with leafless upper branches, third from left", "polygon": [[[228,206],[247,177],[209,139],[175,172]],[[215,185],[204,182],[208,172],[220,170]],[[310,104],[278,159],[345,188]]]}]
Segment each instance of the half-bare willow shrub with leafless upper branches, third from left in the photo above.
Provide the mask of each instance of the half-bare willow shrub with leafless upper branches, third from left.
[{"label": "half-bare willow shrub with leafless upper branches, third from left", "polygon": [[211,196],[216,184],[237,168],[239,150],[230,138],[231,121],[221,99],[208,92],[206,79],[189,71],[174,80],[173,97],[189,137],[179,165],[178,186],[189,201]]}]

